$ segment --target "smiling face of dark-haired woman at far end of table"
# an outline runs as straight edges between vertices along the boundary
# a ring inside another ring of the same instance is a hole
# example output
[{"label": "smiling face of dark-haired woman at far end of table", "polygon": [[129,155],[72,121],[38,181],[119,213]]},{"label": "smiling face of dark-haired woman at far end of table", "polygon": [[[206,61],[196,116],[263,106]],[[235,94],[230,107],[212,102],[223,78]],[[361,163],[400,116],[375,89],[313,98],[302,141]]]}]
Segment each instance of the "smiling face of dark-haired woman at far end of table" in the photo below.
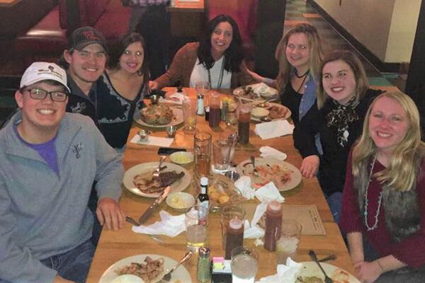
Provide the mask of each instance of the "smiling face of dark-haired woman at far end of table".
[{"label": "smiling face of dark-haired woman at far end of table", "polygon": [[215,26],[211,34],[211,54],[220,59],[233,40],[233,28],[228,22],[221,22]]}]

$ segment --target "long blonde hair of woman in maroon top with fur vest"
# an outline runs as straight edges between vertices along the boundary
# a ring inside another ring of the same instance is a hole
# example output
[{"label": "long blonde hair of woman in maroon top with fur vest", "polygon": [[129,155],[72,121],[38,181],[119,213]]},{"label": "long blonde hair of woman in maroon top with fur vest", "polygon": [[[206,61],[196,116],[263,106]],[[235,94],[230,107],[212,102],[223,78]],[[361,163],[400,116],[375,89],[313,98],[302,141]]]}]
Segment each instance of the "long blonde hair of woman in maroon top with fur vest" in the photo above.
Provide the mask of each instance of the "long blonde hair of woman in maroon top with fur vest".
[{"label": "long blonde hair of woman in maroon top with fur vest", "polygon": [[[360,178],[361,175],[368,175],[365,171],[368,171],[370,159],[378,154],[378,148],[369,134],[369,121],[373,105],[382,97],[391,98],[402,106],[407,115],[409,129],[404,139],[392,151],[390,164],[384,170],[375,173],[374,177],[394,190],[405,192],[416,185],[420,164],[425,155],[425,143],[421,141],[419,111],[412,98],[399,91],[382,93],[370,104],[363,123],[363,133],[353,149],[353,176]],[[360,183],[365,184],[365,181]]]}]

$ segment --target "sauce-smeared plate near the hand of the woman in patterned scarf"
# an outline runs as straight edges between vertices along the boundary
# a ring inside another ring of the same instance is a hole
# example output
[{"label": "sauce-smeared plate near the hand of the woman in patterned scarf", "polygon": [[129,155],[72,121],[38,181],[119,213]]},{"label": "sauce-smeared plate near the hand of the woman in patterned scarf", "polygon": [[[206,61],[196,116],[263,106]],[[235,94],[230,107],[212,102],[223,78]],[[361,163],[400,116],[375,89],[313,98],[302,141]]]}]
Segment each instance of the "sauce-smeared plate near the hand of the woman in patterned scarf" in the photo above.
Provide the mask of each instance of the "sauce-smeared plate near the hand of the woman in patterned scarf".
[{"label": "sauce-smeared plate near the hand of the woman in patterned scarf", "polygon": [[276,158],[255,158],[255,168],[258,174],[254,173],[251,161],[245,160],[236,166],[236,171],[241,176],[251,177],[252,187],[257,189],[273,182],[283,192],[297,187],[302,180],[298,168]]}]

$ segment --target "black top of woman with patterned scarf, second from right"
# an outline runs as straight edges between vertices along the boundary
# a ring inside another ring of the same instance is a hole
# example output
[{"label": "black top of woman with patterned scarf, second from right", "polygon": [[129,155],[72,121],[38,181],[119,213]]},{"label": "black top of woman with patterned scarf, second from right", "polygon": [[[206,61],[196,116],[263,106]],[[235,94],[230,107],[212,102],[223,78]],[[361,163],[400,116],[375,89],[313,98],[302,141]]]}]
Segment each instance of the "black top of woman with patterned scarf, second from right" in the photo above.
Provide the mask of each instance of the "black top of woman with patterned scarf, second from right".
[{"label": "black top of woman with patterned scarf, second from right", "polygon": [[310,155],[319,156],[317,148],[314,146],[314,135],[320,134],[323,155],[320,159],[319,183],[325,194],[331,195],[333,192],[342,192],[348,153],[354,141],[361,135],[363,121],[370,103],[380,93],[382,91],[368,89],[365,96],[354,108],[358,119],[348,122],[346,131],[348,137],[344,146],[337,140],[337,127],[327,125],[327,115],[337,108],[337,104],[332,99],[328,99],[321,110],[318,110],[317,104],[314,104],[300,121],[299,127],[295,127],[294,145],[300,151],[302,158]]}]

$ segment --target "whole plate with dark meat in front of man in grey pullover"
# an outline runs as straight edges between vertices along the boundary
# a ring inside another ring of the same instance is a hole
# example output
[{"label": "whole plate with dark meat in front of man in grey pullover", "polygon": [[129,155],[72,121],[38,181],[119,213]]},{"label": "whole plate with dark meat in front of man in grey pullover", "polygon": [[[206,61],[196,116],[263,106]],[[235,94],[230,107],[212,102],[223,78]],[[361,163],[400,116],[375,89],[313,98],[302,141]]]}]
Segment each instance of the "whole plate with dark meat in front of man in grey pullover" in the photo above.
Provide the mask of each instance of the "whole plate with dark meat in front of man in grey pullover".
[{"label": "whole plate with dark meat in front of man in grey pullover", "polygon": [[153,173],[158,162],[138,164],[124,173],[123,184],[127,190],[142,197],[159,197],[167,186],[170,192],[181,192],[191,183],[190,173],[174,163],[162,163],[162,170],[157,177]]}]

